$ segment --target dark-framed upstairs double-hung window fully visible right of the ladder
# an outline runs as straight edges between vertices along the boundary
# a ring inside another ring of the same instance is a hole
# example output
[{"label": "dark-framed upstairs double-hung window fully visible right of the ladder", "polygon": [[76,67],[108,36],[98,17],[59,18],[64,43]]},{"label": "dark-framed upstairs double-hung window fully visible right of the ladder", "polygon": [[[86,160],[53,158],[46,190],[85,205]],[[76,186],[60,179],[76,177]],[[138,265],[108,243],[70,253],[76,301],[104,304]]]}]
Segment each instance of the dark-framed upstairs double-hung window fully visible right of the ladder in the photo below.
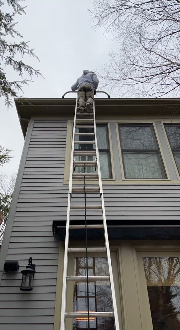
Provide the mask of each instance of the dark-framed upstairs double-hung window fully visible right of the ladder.
[{"label": "dark-framed upstairs double-hung window fully visible right of the ladder", "polygon": [[166,179],[153,125],[119,125],[126,179]]}]

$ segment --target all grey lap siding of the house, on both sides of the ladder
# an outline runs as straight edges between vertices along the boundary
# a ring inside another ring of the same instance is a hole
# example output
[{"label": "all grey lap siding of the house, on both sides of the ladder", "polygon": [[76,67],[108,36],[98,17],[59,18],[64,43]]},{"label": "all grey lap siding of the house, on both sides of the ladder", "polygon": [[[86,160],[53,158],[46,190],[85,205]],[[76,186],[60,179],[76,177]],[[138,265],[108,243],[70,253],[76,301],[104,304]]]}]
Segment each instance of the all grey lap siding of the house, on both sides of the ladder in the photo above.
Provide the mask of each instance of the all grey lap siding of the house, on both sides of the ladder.
[{"label": "all grey lap siding of the house, on both sides of the ladder", "polygon": [[[18,260],[20,268],[2,277],[1,330],[29,330],[33,325],[36,330],[53,329],[59,242],[52,234],[52,220],[67,215],[68,185],[63,185],[66,134],[66,120],[34,121],[6,257]],[[116,139],[113,135],[112,140]],[[106,184],[103,188],[107,219],[180,217],[179,185]],[[83,204],[83,195],[74,195],[72,204]],[[88,204],[100,204],[100,199],[87,194]],[[71,215],[77,219],[76,211]],[[99,219],[101,212],[87,211],[87,217]],[[84,219],[83,210],[78,219]],[[20,271],[30,255],[36,274],[33,291],[26,293],[19,290]]]}]

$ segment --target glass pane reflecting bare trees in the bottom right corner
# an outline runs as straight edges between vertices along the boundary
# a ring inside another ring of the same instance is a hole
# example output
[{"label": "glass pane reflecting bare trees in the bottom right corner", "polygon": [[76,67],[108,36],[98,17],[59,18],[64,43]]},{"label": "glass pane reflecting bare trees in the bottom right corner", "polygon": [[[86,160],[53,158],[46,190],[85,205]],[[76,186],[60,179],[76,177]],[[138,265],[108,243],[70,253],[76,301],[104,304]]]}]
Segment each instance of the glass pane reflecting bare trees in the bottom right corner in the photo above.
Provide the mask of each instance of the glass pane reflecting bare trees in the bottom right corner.
[{"label": "glass pane reflecting bare trees in the bottom right corner", "polygon": [[176,257],[144,257],[153,330],[180,329],[180,264]]}]

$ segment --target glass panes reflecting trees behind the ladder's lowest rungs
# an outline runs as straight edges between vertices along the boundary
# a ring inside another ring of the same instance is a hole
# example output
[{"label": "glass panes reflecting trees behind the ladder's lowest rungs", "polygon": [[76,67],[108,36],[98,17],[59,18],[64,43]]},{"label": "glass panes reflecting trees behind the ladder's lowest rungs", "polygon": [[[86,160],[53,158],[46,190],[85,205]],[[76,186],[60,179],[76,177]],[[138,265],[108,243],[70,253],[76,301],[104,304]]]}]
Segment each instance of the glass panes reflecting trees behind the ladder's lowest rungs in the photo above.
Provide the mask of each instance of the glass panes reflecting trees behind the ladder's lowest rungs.
[{"label": "glass panes reflecting trees behind the ladder's lowest rungs", "polygon": [[[86,258],[75,258],[75,276],[86,276]],[[108,276],[106,257],[88,257],[89,276]],[[74,312],[87,311],[87,283],[75,282],[74,284]],[[112,312],[111,292],[109,281],[89,282],[89,309],[91,312]],[[88,329],[86,317],[73,319],[73,330]],[[90,329],[114,330],[112,317],[90,317]]]}]

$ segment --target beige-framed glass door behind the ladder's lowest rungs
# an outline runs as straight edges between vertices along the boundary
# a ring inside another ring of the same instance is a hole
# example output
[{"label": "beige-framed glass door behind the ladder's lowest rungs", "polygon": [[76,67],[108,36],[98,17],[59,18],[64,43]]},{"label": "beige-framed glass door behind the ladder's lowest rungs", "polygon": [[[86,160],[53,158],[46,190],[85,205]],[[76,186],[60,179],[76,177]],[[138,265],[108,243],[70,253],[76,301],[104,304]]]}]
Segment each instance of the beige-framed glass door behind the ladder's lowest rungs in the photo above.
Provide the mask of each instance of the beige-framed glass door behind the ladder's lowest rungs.
[{"label": "beige-framed glass door behind the ladder's lowest rungs", "polygon": [[[98,245],[98,242],[97,242]],[[63,246],[63,245],[62,245]],[[101,245],[102,246],[102,245]],[[59,252],[61,255],[62,250]],[[119,273],[117,251],[111,252],[111,263],[113,269],[113,278],[115,286],[115,295],[118,311],[118,319],[120,329],[122,329],[122,306],[120,298]],[[63,257],[61,259],[63,263]],[[58,266],[59,267],[59,266]],[[63,275],[62,264],[59,268],[59,278],[57,279],[56,299],[61,301],[61,280]],[[88,275],[89,276],[108,276],[107,258],[105,252],[89,252],[88,253]],[[70,253],[68,256],[68,276],[75,276],[75,281],[67,281],[67,297],[66,297],[66,313],[81,313],[75,317],[68,317],[65,320],[66,330],[87,330],[88,320],[87,315],[82,313],[87,312],[87,281],[82,279],[86,276],[86,255],[85,253]],[[81,280],[82,279],[82,280]],[[89,309],[91,312],[112,312],[111,290],[109,280],[92,281],[89,279]],[[74,316],[74,315],[73,315]],[[60,322],[59,303],[55,307],[55,320],[58,318]],[[59,329],[59,323],[56,323]],[[114,317],[94,317],[90,315],[91,330],[115,330]]]}]

